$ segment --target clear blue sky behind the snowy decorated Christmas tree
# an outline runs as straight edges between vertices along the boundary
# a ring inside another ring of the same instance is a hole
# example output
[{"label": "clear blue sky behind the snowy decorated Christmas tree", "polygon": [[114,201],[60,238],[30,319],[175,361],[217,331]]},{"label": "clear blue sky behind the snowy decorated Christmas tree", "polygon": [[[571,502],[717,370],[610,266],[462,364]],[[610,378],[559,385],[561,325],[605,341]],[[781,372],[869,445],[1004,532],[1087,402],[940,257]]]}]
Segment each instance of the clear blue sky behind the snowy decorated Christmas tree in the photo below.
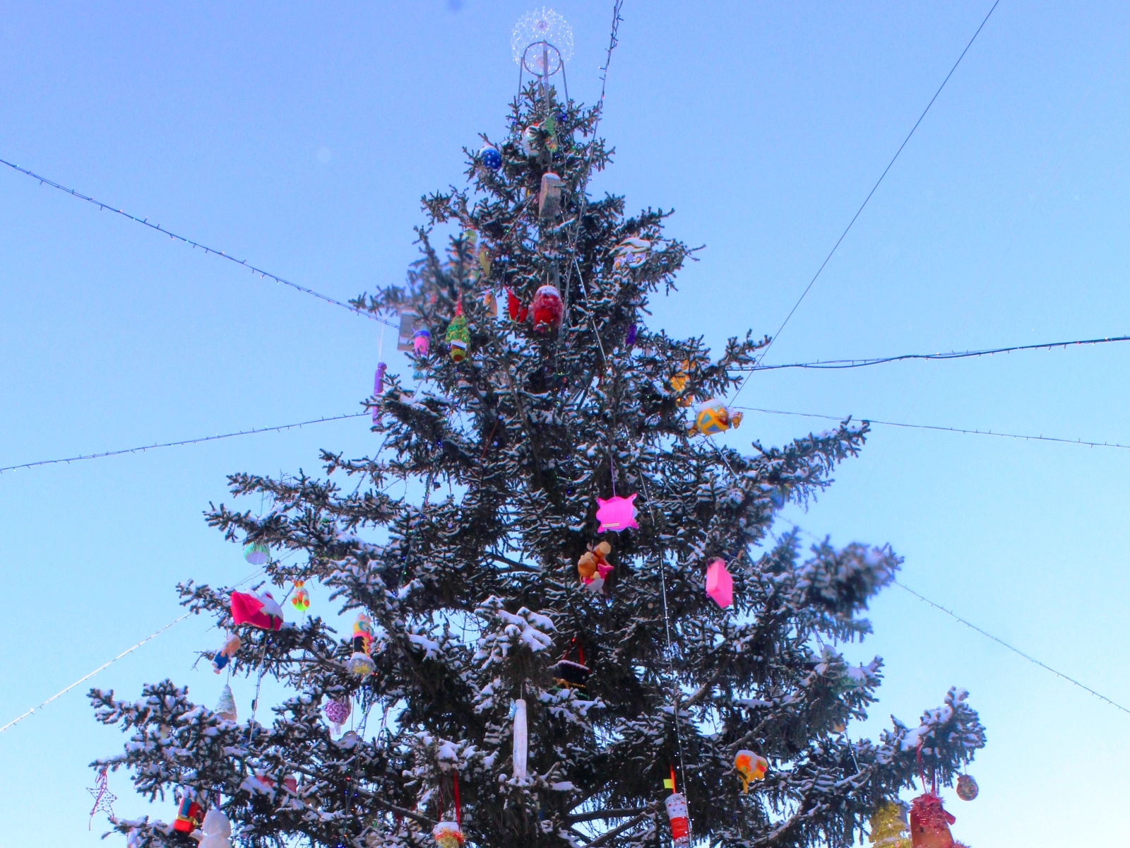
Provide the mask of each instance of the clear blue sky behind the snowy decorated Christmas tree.
[{"label": "clear blue sky behind the snowy decorated Christmas tree", "polygon": [[[671,233],[706,245],[652,326],[715,347],[773,334],[990,5],[627,0],[601,124],[616,164],[594,189],[673,207]],[[0,157],[339,298],[402,279],[419,197],[462,180],[479,131],[505,132],[528,9],[6,8]],[[570,92],[592,102],[610,3],[556,8]],[[767,362],[1130,331],[1128,24],[1125,3],[1002,0]],[[353,412],[379,357],[379,325],[8,168],[0,294],[0,466]],[[1128,363],[1109,345],[777,371],[741,400],[1130,444]],[[725,439],[825,426],[749,413]],[[231,503],[227,473],[315,470],[320,447],[376,443],[355,419],[0,476],[0,724],[177,617],[177,581],[250,571],[201,511]],[[1130,706],[1128,467],[1125,450],[877,426],[788,514],[836,544],[889,542],[907,586]],[[881,655],[886,683],[852,733],[916,722],[950,685],[988,727],[980,798],[946,796],[955,836],[1081,848],[1122,831],[1130,715],[897,587],[871,617],[849,652]],[[93,683],[134,698],[172,676],[210,704],[219,678],[191,668],[208,628],[177,624]],[[103,817],[84,828],[87,763],[122,739],[88,685],[0,734],[3,845],[105,845]],[[173,815],[123,772],[111,788],[121,815]]]}]

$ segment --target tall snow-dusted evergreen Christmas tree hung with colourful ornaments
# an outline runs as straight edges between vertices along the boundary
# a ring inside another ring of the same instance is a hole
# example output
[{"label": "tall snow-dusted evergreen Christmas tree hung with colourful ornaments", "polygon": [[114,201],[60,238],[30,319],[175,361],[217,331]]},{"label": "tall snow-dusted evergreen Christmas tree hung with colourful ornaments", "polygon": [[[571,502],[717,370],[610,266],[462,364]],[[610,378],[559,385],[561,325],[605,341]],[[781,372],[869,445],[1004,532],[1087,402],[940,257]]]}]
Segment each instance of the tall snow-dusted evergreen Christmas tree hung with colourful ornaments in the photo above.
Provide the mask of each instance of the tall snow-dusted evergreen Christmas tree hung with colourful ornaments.
[{"label": "tall snow-dusted evergreen Christmas tree hung with colourful ornaments", "polygon": [[[167,804],[114,820],[137,848],[225,846],[228,823],[241,846],[849,846],[984,744],[958,690],[916,727],[847,735],[881,663],[834,646],[869,632],[901,561],[771,530],[867,425],[719,443],[767,339],[712,353],[649,326],[690,251],[668,213],[589,196],[600,107],[567,99],[546,41],[468,185],[424,199],[406,284],[356,302],[401,323],[417,378],[381,365],[373,456],[235,474],[269,508],[208,513],[286,599],[182,600],[229,633],[209,659],[289,696],[240,720],[229,690],[215,710],[171,680],[92,691],[130,734],[95,767]],[[351,632],[305,613],[314,585]]]}]

